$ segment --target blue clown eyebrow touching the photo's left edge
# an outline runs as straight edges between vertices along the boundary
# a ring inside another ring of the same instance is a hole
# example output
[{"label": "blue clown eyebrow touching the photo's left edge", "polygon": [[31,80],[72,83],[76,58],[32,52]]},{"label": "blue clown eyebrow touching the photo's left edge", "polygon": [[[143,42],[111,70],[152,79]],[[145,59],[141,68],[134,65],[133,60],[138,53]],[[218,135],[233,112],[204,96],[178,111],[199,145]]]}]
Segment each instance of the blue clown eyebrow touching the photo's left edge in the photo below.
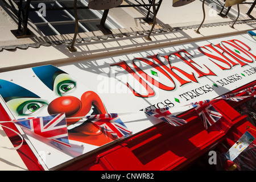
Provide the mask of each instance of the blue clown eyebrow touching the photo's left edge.
[{"label": "blue clown eyebrow touching the photo's left edge", "polygon": [[30,90],[23,88],[13,82],[0,79],[0,94],[5,102],[15,98],[40,98]]}]

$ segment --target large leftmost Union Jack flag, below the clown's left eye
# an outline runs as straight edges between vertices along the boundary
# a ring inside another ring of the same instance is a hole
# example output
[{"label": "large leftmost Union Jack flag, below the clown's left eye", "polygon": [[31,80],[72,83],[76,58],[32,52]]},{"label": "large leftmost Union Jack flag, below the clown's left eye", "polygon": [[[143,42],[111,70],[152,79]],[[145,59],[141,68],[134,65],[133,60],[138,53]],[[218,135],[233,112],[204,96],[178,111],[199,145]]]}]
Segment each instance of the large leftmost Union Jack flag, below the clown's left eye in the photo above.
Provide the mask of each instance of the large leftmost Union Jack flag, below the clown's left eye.
[{"label": "large leftmost Union Jack flag, below the clown's left eye", "polygon": [[65,114],[53,114],[46,117],[16,119],[15,124],[22,126],[41,137],[71,147],[68,140]]}]

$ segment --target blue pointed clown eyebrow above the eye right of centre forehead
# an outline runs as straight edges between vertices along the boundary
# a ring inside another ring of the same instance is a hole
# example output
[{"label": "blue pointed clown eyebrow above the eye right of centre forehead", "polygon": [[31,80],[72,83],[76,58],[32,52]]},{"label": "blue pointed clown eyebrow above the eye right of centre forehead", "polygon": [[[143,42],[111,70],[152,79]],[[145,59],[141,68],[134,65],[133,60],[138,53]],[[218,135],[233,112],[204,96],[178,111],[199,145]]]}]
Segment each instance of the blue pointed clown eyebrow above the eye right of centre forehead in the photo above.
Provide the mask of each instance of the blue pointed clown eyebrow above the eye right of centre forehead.
[{"label": "blue pointed clown eyebrow above the eye right of centre forehead", "polygon": [[38,76],[38,78],[43,82],[43,84],[51,90],[53,90],[54,81],[58,75],[62,73],[68,74],[61,69],[54,67],[53,65],[34,67],[32,70],[34,71],[35,75]]}]

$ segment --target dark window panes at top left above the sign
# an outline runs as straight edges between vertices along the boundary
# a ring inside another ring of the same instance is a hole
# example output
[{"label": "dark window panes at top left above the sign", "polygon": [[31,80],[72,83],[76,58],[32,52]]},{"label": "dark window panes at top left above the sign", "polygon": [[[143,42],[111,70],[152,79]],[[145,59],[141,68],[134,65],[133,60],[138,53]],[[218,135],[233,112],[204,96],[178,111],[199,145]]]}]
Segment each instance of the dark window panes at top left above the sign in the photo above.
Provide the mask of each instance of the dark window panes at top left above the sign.
[{"label": "dark window panes at top left above the sign", "polygon": [[[18,3],[18,1],[15,1]],[[70,0],[62,1],[31,1],[30,8],[40,8],[39,3],[44,3],[46,9],[73,7],[74,2]],[[25,7],[26,2],[23,2]],[[84,0],[77,1],[77,7],[85,7],[87,2]],[[66,10],[46,10],[46,15],[42,16],[42,10],[30,11],[29,19],[33,22],[44,35],[61,35],[73,34],[75,32],[75,11],[73,9]],[[100,24],[103,11],[96,11],[91,9],[77,9],[77,18],[79,19],[79,32],[98,31],[97,24]],[[109,19],[109,18],[108,18]],[[105,27],[111,29],[106,20]],[[119,28],[119,27],[114,27]]]}]

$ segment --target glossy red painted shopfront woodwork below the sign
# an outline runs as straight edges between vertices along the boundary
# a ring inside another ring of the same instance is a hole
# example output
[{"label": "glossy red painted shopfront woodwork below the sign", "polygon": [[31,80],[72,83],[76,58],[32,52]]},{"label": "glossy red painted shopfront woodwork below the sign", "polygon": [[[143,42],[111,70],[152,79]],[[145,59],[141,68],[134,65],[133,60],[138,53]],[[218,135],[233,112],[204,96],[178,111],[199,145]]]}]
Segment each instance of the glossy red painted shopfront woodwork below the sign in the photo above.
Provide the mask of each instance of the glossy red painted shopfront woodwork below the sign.
[{"label": "glossy red painted shopfront woodwork below the sign", "polygon": [[[256,81],[251,82],[232,92],[239,92],[255,84]],[[253,120],[250,119],[251,115],[240,114],[246,110],[241,108],[255,110],[255,102],[254,97],[249,97],[240,102],[219,100],[212,103],[223,117],[208,130],[205,130],[195,109],[191,109],[179,115],[188,121],[186,125],[172,127],[165,122],[159,123],[59,169],[97,171],[189,169],[201,156],[208,154],[211,150],[216,151],[217,154],[225,154],[246,131],[256,137],[255,118]],[[248,103],[252,105],[248,105]],[[3,107],[1,107],[1,120],[10,120]],[[13,123],[5,123],[5,126],[16,128]],[[4,130],[14,146],[18,146],[21,142],[18,135],[8,129]],[[246,150],[255,152],[255,144],[254,140]],[[242,154],[245,154],[246,150]],[[25,141],[19,148],[18,154],[29,170],[43,170]],[[250,159],[251,163],[255,164],[255,158]],[[225,160],[222,162],[221,167],[224,166],[222,169],[227,169],[224,165]],[[236,165],[239,167],[237,169],[246,169],[242,164]],[[250,166],[250,163],[246,163],[246,165]]]}]

